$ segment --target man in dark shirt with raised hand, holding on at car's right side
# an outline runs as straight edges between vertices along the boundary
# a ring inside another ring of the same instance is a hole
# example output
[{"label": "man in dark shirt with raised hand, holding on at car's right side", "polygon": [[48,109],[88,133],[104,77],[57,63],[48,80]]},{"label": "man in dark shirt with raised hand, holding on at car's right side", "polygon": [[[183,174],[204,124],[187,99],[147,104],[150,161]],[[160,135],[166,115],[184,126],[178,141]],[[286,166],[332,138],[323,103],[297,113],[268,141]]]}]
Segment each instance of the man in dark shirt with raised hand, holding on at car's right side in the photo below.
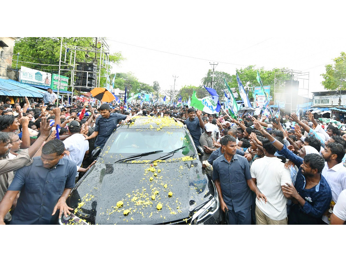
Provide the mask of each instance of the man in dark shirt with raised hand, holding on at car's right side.
[{"label": "man in dark shirt with raised hand, holding on at car's right side", "polygon": [[[196,117],[197,115],[197,117]],[[199,138],[202,134],[202,128],[204,128],[204,122],[202,120],[202,111],[197,110],[195,112],[194,108],[188,109],[188,119],[182,120],[182,119],[175,119],[176,121],[180,121],[184,124],[186,124],[186,127],[188,128],[191,137],[193,139],[193,143],[195,144],[196,148],[200,146]]]}]

